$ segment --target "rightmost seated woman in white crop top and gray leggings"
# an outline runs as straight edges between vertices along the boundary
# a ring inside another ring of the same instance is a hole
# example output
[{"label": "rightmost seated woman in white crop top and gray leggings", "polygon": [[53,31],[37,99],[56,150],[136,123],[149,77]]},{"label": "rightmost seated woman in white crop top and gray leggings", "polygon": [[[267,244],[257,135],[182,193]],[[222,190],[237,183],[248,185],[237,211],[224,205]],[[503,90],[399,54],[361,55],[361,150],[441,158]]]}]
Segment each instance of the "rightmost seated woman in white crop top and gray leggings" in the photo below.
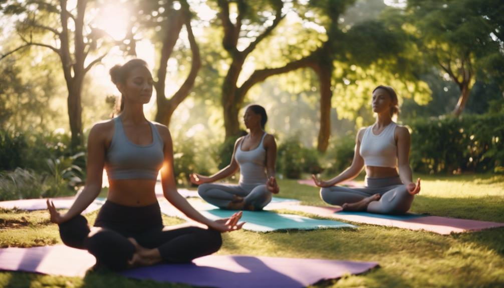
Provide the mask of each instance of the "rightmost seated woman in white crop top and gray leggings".
[{"label": "rightmost seated woman in white crop top and gray leggings", "polygon": [[[398,114],[397,94],[392,87],[378,86],[373,90],[372,109],[376,122],[359,130],[355,139],[352,164],[328,181],[317,179],[321,198],[343,210],[372,213],[405,213],[411,207],[414,195],[420,192],[420,178],[411,180],[409,166],[410,133],[406,127],[392,121]],[[334,186],[359,175],[365,166],[364,188]]]}]

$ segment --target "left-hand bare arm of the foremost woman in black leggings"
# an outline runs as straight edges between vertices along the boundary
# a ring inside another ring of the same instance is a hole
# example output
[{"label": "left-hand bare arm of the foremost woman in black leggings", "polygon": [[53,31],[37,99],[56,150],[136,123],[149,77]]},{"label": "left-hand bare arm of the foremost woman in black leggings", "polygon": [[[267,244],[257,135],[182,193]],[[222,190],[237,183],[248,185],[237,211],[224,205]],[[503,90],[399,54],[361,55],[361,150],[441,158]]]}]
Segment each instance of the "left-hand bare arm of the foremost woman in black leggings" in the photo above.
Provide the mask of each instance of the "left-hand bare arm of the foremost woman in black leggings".
[{"label": "left-hand bare arm of the foremost woman in black leggings", "polygon": [[82,192],[77,195],[72,207],[67,213],[60,215],[54,204],[47,200],[51,222],[60,224],[74,218],[84,211],[100,193],[105,163],[105,137],[103,135],[106,134],[106,127],[104,125],[106,124],[96,124],[89,133],[86,184]]}]

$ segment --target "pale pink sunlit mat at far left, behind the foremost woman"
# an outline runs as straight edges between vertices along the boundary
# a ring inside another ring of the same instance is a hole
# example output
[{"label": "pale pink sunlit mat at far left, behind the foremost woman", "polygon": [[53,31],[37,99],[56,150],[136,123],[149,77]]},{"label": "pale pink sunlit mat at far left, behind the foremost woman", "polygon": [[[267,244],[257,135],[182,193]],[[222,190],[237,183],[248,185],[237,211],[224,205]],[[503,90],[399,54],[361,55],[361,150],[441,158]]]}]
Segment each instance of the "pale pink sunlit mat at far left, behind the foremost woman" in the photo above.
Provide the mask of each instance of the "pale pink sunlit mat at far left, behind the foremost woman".
[{"label": "pale pink sunlit mat at far left, behind the foremost woman", "polygon": [[[57,209],[69,209],[75,201],[75,197],[50,198]],[[105,201],[94,200],[82,213],[90,213],[99,209]],[[1,201],[0,207],[6,209],[18,208],[21,210],[44,210],[47,209],[46,199],[23,199],[12,201]]]}]

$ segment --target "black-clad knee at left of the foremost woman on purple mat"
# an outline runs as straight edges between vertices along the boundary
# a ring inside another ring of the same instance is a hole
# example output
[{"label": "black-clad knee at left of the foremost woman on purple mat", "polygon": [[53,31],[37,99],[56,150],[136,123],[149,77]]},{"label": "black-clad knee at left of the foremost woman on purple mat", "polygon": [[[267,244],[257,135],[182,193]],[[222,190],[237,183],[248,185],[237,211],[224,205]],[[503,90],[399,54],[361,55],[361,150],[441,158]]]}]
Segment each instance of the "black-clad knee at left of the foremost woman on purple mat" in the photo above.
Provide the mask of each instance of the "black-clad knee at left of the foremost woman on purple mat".
[{"label": "black-clad knee at left of the foremost woman on purple mat", "polygon": [[83,215],[77,215],[59,226],[61,241],[69,247],[85,249],[84,241],[89,235],[88,221]]}]

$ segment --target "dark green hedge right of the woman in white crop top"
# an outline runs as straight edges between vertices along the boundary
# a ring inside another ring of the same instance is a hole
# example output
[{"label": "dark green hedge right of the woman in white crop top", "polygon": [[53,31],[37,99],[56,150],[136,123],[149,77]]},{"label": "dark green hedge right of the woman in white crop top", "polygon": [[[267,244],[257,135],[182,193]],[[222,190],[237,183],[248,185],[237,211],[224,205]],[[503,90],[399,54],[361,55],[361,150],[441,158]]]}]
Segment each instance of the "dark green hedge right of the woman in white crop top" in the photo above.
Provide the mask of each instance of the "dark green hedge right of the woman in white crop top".
[{"label": "dark green hedge right of the woman in white crop top", "polygon": [[504,166],[504,114],[418,119],[411,127],[410,164],[425,173],[499,171]]}]

